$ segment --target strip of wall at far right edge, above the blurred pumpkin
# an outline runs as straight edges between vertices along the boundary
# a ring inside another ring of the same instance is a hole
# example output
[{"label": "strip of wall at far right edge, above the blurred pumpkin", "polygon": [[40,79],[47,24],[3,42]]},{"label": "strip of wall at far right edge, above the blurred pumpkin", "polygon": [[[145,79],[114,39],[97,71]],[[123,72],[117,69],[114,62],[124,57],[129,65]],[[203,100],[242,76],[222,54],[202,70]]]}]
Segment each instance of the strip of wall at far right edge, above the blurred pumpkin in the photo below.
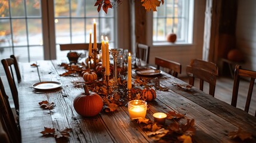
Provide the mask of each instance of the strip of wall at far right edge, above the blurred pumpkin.
[{"label": "strip of wall at far right edge, above the blurred pumpkin", "polygon": [[238,0],[236,48],[243,52],[242,68],[256,70],[256,1]]}]

